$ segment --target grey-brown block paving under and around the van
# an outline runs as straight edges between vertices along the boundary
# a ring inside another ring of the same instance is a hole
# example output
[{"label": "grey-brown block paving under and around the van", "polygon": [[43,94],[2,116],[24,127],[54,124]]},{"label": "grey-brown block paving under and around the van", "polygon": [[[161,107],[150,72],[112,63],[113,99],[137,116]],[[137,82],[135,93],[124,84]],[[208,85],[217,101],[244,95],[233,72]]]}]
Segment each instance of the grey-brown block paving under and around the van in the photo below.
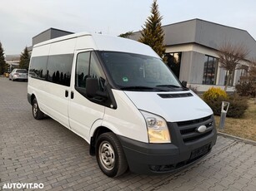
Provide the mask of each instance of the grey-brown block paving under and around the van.
[{"label": "grey-brown block paving under and around the van", "polygon": [[43,183],[42,190],[256,190],[256,146],[222,136],[211,154],[177,174],[110,179],[78,135],[50,118],[33,119],[26,88],[0,77],[0,190],[11,183]]}]

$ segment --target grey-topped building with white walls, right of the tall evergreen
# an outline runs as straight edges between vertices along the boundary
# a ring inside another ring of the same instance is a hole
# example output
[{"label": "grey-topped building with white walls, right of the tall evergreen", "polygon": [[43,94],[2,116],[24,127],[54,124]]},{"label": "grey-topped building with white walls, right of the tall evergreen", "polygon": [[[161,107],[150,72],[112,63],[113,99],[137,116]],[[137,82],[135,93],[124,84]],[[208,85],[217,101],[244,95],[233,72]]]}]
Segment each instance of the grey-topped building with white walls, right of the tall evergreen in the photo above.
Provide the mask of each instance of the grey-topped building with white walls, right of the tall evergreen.
[{"label": "grey-topped building with white walls, right of the tall evergreen", "polygon": [[[256,58],[256,42],[242,29],[193,19],[163,26],[163,31],[168,66],[180,81],[188,81],[188,86],[198,91],[207,91],[211,86],[224,87],[227,71],[219,67],[216,54],[223,42],[243,43],[250,51],[248,58]],[[130,38],[138,40],[139,37],[140,32],[135,32]],[[241,74],[243,70],[235,71],[228,91],[233,91]]]}]

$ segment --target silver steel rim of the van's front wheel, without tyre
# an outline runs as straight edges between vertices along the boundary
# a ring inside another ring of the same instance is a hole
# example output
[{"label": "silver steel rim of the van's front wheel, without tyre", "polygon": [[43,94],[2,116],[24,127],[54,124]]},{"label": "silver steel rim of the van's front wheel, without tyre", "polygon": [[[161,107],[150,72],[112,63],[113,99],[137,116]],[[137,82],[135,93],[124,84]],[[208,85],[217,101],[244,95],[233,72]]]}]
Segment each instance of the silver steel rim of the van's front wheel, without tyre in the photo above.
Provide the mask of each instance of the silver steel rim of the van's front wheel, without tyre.
[{"label": "silver steel rim of the van's front wheel, without tyre", "polygon": [[105,169],[112,170],[114,168],[115,154],[112,145],[108,141],[103,141],[99,145],[98,155]]}]

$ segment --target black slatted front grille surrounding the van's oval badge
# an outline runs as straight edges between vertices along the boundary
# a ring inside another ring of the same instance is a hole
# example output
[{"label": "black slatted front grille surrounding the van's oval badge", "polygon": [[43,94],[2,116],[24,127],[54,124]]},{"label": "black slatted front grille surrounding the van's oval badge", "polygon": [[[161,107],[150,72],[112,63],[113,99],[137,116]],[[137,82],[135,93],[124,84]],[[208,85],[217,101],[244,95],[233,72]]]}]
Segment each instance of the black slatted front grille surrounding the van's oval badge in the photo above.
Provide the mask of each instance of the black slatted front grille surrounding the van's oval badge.
[{"label": "black slatted front grille surrounding the van's oval badge", "polygon": [[[200,140],[213,132],[213,119],[211,115],[196,120],[180,121],[177,122],[177,125],[184,143]],[[198,127],[201,125],[206,126],[206,130],[203,133],[198,132]]]}]

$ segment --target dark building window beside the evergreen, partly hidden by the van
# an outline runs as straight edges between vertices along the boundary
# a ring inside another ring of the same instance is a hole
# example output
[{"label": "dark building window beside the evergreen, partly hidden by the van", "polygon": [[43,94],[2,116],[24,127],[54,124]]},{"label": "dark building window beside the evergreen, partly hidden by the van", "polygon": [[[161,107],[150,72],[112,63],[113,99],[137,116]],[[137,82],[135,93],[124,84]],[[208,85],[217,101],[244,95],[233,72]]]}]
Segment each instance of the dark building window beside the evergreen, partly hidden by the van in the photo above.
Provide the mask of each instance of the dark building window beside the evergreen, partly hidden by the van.
[{"label": "dark building window beside the evergreen, partly hidden by the van", "polygon": [[173,71],[175,76],[179,78],[180,62],[181,62],[181,52],[171,52],[166,53],[167,56],[167,66]]}]

